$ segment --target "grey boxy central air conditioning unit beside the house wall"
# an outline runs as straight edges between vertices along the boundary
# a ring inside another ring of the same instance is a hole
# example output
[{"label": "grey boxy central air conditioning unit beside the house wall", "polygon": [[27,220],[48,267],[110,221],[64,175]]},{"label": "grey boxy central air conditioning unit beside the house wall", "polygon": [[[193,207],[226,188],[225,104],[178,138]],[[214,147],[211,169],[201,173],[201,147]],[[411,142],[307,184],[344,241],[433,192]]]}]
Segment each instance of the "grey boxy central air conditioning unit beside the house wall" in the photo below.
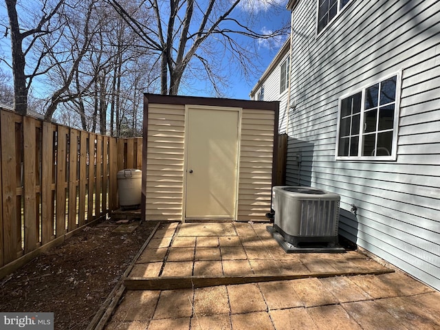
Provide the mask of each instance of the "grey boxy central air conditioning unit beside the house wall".
[{"label": "grey boxy central air conditioning unit beside the house wall", "polygon": [[340,195],[309,187],[272,188],[274,230],[285,241],[338,243]]}]

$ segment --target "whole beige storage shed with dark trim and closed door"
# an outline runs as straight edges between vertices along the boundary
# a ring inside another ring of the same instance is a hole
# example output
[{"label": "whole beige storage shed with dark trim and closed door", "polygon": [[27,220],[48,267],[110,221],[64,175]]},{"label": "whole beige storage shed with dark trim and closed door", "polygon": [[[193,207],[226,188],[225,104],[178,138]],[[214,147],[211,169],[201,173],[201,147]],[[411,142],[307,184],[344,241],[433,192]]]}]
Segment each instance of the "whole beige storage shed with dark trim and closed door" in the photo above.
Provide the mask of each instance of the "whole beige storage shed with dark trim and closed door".
[{"label": "whole beige storage shed with dark trim and closed door", "polygon": [[267,221],[278,108],[144,94],[143,219]]}]

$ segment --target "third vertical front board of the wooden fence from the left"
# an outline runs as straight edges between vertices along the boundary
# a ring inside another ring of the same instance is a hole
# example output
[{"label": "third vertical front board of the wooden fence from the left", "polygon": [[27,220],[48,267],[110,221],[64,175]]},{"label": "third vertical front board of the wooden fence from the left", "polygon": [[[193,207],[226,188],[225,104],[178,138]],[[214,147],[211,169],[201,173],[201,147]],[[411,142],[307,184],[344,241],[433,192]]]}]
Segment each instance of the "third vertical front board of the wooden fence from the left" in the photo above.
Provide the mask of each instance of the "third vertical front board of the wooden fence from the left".
[{"label": "third vertical front board of the wooden fence from the left", "polygon": [[54,204],[52,201],[52,177],[54,170],[54,125],[43,122],[43,148],[41,155],[41,243],[50,241],[54,234]]}]

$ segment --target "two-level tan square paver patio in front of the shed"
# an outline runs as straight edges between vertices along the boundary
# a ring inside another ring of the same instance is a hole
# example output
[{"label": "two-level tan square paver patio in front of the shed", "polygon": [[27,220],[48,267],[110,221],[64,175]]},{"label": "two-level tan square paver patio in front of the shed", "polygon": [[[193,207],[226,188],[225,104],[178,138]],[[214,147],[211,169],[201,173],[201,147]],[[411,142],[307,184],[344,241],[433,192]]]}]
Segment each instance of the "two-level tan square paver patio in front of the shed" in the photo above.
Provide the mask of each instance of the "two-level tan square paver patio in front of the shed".
[{"label": "two-level tan square paver patio in front of the shed", "polygon": [[354,251],[286,254],[266,226],[161,225],[106,329],[440,329],[436,290]]}]

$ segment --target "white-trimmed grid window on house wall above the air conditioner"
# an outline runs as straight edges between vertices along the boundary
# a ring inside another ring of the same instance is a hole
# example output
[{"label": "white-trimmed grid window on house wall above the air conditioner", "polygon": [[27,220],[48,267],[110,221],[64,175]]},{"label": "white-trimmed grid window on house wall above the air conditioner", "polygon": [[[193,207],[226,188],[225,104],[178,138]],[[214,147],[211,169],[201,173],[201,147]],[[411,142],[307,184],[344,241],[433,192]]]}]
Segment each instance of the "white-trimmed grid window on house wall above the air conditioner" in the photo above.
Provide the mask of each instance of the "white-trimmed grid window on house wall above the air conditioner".
[{"label": "white-trimmed grid window on house wall above the air conditioner", "polygon": [[340,99],[337,159],[395,159],[398,85],[395,75]]}]

